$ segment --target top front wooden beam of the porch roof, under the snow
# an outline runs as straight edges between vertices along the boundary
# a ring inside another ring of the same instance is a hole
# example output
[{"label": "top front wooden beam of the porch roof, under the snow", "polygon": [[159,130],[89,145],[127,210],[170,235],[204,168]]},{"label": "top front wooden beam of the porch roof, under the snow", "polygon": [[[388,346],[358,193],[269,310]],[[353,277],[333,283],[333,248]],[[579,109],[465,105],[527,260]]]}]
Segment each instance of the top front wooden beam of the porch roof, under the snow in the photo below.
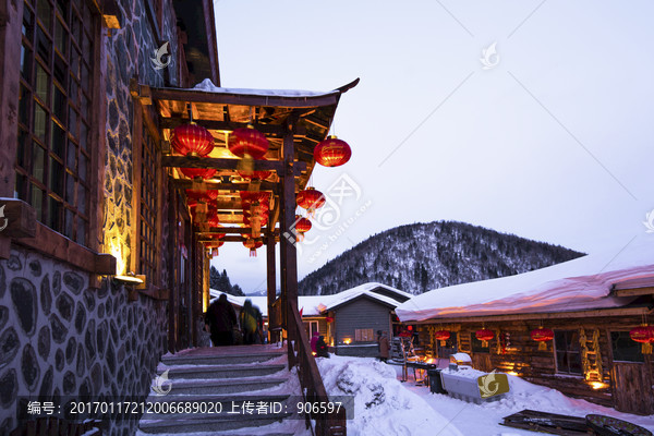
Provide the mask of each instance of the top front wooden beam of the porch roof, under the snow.
[{"label": "top front wooden beam of the porch roof, under the snow", "polygon": [[235,93],[205,93],[202,90],[175,88],[152,88],[152,96],[157,100],[173,100],[183,102],[275,106],[279,108],[315,108],[320,106],[336,106],[338,104],[340,93],[331,92],[316,96],[282,97]]}]

